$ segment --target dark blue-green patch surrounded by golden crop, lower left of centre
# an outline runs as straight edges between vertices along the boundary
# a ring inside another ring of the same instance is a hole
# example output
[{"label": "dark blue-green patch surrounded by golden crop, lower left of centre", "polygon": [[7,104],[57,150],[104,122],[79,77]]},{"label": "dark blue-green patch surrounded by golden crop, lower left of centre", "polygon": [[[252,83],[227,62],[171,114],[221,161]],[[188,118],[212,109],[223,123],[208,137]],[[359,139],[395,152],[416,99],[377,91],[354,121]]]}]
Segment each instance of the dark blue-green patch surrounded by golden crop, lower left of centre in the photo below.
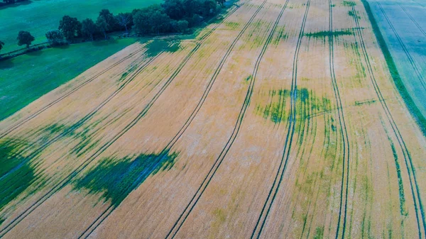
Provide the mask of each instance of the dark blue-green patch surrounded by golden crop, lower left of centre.
[{"label": "dark blue-green patch surrounded by golden crop, lower left of centre", "polygon": [[75,180],[75,190],[87,189],[89,194],[100,194],[104,201],[119,206],[131,191],[150,175],[173,167],[177,153],[164,150],[159,154],[141,154],[136,157],[104,158],[86,175]]}]

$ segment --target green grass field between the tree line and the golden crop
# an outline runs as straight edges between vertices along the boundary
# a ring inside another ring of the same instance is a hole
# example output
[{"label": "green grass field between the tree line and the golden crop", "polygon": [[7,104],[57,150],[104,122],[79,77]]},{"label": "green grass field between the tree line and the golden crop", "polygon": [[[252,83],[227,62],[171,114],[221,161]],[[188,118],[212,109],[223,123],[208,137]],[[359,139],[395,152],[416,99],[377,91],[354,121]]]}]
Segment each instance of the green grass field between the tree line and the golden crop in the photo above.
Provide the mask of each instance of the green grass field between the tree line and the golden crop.
[{"label": "green grass field between the tree line and the golden crop", "polygon": [[0,61],[0,120],[135,42],[79,43]]}]

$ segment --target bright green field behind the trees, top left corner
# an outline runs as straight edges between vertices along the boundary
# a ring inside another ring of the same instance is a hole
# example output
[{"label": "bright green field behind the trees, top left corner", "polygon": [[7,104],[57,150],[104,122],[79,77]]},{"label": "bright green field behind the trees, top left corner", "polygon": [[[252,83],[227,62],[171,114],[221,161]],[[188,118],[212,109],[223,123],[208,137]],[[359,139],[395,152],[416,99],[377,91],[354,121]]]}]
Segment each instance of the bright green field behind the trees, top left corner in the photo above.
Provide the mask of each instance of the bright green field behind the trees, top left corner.
[{"label": "bright green field behind the trees, top left corner", "polygon": [[140,9],[162,0],[29,0],[0,8],[0,40],[5,43],[0,53],[17,50],[16,37],[20,30],[28,30],[34,37],[33,44],[46,41],[45,33],[57,29],[64,15],[96,20],[101,9],[114,14]]}]

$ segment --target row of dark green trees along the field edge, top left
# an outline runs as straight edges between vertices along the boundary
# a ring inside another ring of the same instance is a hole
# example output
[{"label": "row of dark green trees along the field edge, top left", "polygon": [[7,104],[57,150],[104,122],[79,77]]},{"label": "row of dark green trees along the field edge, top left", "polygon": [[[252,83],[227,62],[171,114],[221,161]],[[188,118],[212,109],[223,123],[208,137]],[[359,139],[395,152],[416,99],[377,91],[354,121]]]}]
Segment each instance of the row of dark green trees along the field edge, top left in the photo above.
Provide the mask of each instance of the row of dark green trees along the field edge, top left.
[{"label": "row of dark green trees along the field edge, top left", "polygon": [[[3,0],[18,1],[18,0]],[[224,5],[226,0],[164,0],[163,4],[155,4],[143,9],[134,9],[130,13],[119,13],[114,16],[109,10],[102,9],[96,21],[90,18],[82,22],[77,18],[63,16],[58,29],[45,33],[50,45],[74,43],[84,38],[95,40],[107,39],[107,33],[133,29],[138,35],[161,33],[183,33],[188,28],[212,18]],[[27,48],[34,40],[28,31],[18,33],[18,45]],[[4,43],[0,41],[0,50]]]}]

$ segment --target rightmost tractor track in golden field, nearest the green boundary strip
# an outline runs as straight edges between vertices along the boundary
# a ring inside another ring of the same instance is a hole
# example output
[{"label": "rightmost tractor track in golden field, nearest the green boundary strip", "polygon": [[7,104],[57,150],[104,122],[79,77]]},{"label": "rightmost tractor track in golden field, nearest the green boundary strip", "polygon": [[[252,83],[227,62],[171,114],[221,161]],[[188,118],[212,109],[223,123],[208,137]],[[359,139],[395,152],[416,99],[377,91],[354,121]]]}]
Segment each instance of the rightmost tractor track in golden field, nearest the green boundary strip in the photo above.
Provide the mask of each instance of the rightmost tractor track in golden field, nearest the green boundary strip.
[{"label": "rightmost tractor track in golden field, nearest the green boundary strip", "polygon": [[[365,0],[361,0],[361,1],[363,2],[365,9],[369,8],[368,2],[366,2]],[[358,19],[358,16],[356,15],[355,6],[351,6],[351,9],[352,9],[352,11],[354,11],[354,17],[353,18],[354,18],[354,21],[355,21],[355,24],[356,24],[356,33],[358,33],[356,35],[359,36],[359,43],[361,45],[362,54],[363,54],[364,60],[366,62],[366,68],[368,70],[369,78],[371,79],[371,83],[373,84],[374,91],[376,92],[376,95],[378,96],[378,99],[379,99],[379,102],[380,102],[380,104],[383,108],[383,111],[385,111],[386,118],[388,119],[388,121],[391,125],[391,128],[393,130],[393,133],[395,134],[395,138],[397,138],[397,140],[398,140],[398,145],[399,145],[401,151],[403,152],[405,166],[407,167],[408,178],[409,178],[409,181],[410,181],[410,189],[411,189],[411,193],[413,195],[415,216],[416,216],[416,220],[417,220],[417,229],[419,230],[419,238],[422,238],[422,230],[420,228],[420,220],[422,220],[421,223],[422,223],[423,230],[426,231],[425,213],[424,213],[424,210],[423,210],[422,199],[420,197],[420,189],[419,189],[418,184],[417,184],[417,176],[416,176],[416,173],[415,173],[413,160],[411,159],[410,152],[408,151],[408,148],[407,148],[407,145],[405,144],[403,136],[401,135],[400,130],[395,123],[395,120],[393,119],[391,111],[388,109],[388,105],[386,104],[386,101],[383,98],[383,95],[381,94],[381,90],[378,87],[376,76],[374,75],[373,67],[371,66],[370,58],[368,57],[366,45],[364,43],[364,37],[362,35],[361,28],[359,28],[359,19]],[[366,10],[366,11],[368,11],[368,10]],[[371,21],[375,21],[375,20],[373,19]],[[417,204],[418,204],[418,206],[417,206]],[[419,213],[420,213],[420,217],[419,217]]]}]

